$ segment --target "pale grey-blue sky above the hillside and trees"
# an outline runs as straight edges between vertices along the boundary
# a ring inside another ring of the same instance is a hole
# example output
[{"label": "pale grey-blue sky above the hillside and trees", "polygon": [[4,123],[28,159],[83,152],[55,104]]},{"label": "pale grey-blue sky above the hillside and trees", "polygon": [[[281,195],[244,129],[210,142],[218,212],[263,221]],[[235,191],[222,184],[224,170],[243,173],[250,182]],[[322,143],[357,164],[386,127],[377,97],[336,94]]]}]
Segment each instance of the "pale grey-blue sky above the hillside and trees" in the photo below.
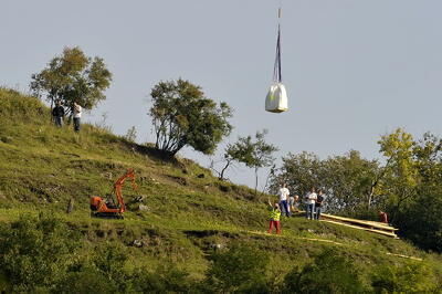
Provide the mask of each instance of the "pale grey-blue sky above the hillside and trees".
[{"label": "pale grey-blue sky above the hillside and trees", "polygon": [[[64,46],[103,57],[107,99],[86,114],[152,141],[148,94],[182,77],[234,108],[225,141],[267,128],[281,151],[379,158],[380,135],[442,134],[442,1],[283,0],[282,65],[290,111],[264,111],[281,0],[0,0],[0,84],[28,90]],[[222,146],[220,146],[222,149]],[[208,158],[190,150],[208,166]],[[229,174],[253,185],[244,167]],[[264,181],[264,172],[261,175]]]}]

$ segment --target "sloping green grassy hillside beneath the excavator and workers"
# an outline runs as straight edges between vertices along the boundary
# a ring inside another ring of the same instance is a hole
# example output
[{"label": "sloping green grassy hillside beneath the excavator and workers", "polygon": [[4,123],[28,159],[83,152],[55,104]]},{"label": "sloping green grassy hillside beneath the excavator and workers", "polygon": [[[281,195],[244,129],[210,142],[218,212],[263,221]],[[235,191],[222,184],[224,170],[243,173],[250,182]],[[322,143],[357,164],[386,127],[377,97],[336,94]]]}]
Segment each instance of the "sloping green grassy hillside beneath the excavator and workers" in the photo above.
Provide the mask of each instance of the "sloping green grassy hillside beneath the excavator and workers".
[{"label": "sloping green grassy hillside beneath the excavator and workers", "polygon": [[[138,190],[130,185],[123,190],[128,202],[125,219],[91,218],[90,197],[110,192],[114,180],[127,168],[136,170]],[[137,196],[145,196],[146,210],[137,210]],[[74,211],[67,214],[70,199],[74,200]],[[423,291],[438,291],[435,285],[442,283],[441,256],[403,240],[301,217],[283,219],[282,235],[266,234],[265,200],[266,196],[256,197],[248,187],[218,180],[191,160],[162,159],[155,149],[113,135],[105,126],[83,125],[80,134],[72,126],[56,128],[50,123],[49,108],[40,101],[0,90],[3,230],[27,218],[55,218],[67,230],[80,233],[77,256],[92,259],[91,252],[97,246],[114,244],[126,256],[122,263],[125,271],[147,267],[157,273],[165,264],[173,265],[196,283],[207,276],[213,264],[212,253],[234,244],[270,253],[265,275],[272,292],[281,290],[284,276],[295,266],[312,264],[325,250],[350,260],[367,287],[382,265],[393,266],[388,269],[394,281],[421,279],[413,283],[428,285],[420,287]],[[404,271],[401,276],[400,269],[423,269],[427,274],[412,276]],[[0,288],[17,284],[12,273],[3,272]],[[21,290],[30,288],[23,285]]]}]

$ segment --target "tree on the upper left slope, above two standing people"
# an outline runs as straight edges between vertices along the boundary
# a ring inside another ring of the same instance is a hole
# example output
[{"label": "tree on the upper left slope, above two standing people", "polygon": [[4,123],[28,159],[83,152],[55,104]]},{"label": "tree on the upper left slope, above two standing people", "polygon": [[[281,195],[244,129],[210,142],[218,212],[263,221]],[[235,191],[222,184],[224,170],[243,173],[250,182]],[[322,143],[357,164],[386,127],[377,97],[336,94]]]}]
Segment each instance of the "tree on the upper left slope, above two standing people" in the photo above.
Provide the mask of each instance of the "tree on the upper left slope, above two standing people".
[{"label": "tree on the upper left slope, above two standing people", "polygon": [[106,96],[112,73],[101,57],[88,57],[78,46],[65,48],[63,54],[52,59],[48,66],[32,75],[31,91],[46,95],[52,105],[56,99],[71,111],[74,102],[85,109],[94,108]]}]

